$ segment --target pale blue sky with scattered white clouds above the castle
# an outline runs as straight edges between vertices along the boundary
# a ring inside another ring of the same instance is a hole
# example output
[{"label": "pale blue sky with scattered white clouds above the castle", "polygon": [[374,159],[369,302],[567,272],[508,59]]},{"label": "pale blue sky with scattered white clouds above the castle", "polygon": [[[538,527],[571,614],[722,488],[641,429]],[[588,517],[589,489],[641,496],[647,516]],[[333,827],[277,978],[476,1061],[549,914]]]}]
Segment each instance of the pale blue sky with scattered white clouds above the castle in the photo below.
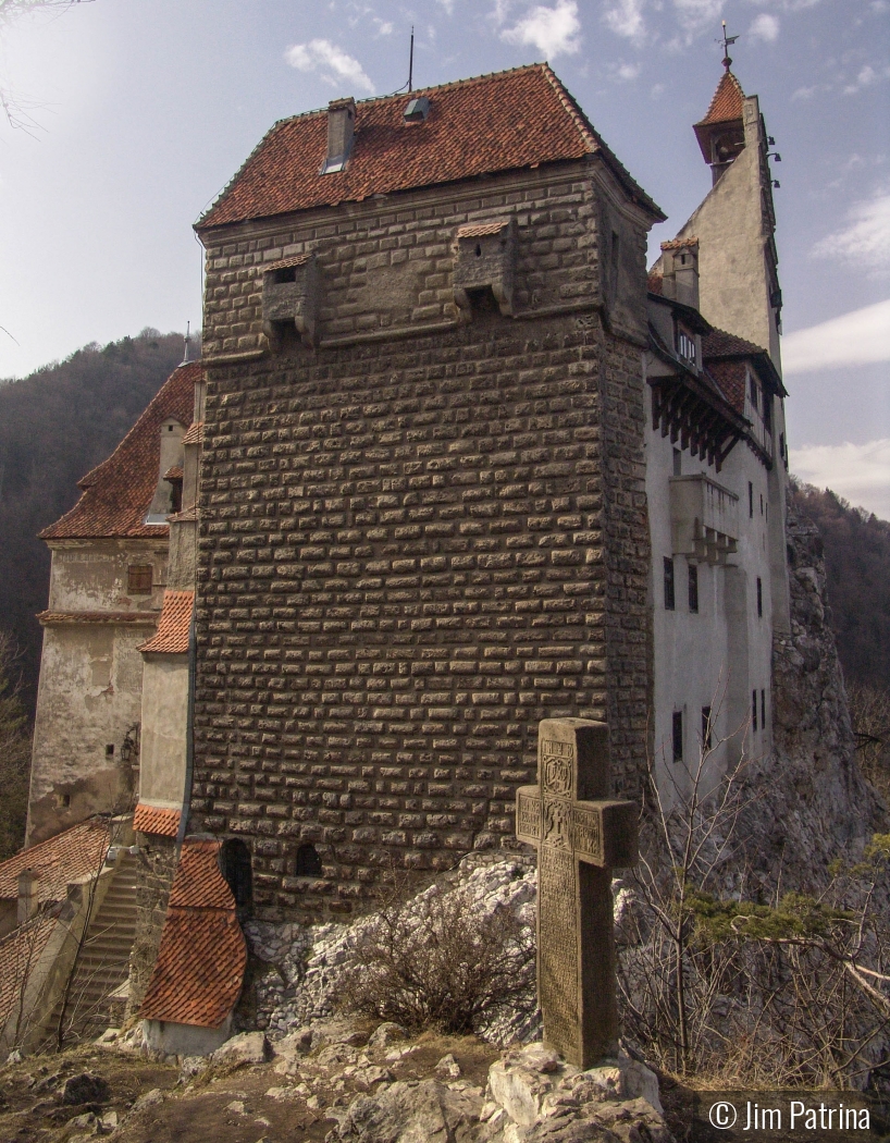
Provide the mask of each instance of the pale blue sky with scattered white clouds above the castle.
[{"label": "pale blue sky with scattered white clouds above the castle", "polygon": [[[890,0],[0,3],[0,377],[201,321],[192,224],[280,118],[548,59],[680,230],[722,73],[771,160],[792,469],[890,519]],[[32,10],[34,6],[40,10]]]}]

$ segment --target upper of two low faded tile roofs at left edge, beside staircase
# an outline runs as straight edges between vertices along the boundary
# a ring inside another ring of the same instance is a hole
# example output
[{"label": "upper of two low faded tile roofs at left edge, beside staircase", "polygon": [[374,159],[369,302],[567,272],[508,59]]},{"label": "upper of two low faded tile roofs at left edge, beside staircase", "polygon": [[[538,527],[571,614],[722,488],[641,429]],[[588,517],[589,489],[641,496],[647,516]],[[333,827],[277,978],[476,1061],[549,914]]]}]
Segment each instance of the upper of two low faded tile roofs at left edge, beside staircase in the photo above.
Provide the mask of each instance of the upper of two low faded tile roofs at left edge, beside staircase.
[{"label": "upper of two low faded tile roofs at left edge, beside staircase", "polygon": [[105,822],[90,818],[48,841],[41,841],[39,846],[19,850],[0,865],[0,900],[17,900],[18,874],[22,870],[32,869],[40,874],[38,902],[63,901],[70,881],[98,872],[110,844]]}]

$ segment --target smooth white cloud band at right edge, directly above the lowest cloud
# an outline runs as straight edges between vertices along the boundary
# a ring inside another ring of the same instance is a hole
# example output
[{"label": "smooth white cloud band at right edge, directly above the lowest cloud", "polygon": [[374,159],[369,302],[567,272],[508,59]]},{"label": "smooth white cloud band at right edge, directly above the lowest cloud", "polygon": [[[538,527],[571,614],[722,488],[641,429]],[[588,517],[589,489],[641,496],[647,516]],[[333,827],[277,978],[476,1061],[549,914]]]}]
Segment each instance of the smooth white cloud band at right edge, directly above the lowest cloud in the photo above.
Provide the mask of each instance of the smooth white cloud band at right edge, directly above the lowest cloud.
[{"label": "smooth white cloud band at right edge, directly above the lowest cloud", "polygon": [[890,298],[781,338],[786,376],[875,361],[890,361]]}]

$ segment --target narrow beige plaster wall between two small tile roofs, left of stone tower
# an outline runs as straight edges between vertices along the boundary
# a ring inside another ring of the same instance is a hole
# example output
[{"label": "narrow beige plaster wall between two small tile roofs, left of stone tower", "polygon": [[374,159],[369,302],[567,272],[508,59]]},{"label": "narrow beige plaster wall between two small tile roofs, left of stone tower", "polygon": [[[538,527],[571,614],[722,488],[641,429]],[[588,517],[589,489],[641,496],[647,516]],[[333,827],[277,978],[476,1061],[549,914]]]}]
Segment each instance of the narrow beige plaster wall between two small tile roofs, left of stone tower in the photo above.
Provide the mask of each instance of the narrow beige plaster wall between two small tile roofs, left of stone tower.
[{"label": "narrow beige plaster wall between two small tile roofs, left of stone tower", "polygon": [[189,656],[144,656],[139,801],[181,809],[185,792]]}]

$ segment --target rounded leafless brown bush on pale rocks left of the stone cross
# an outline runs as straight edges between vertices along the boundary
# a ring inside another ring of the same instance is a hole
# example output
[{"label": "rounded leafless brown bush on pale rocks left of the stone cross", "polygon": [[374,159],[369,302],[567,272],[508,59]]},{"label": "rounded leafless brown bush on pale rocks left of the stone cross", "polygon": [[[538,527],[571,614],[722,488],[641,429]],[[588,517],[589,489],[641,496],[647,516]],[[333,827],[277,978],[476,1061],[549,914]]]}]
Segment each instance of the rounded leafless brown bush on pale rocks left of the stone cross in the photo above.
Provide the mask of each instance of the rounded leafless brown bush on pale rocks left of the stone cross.
[{"label": "rounded leafless brown bush on pale rocks left of the stone cross", "polygon": [[410,1031],[479,1030],[535,1009],[535,942],[510,909],[483,912],[462,888],[394,893],[359,926],[338,1007]]}]

